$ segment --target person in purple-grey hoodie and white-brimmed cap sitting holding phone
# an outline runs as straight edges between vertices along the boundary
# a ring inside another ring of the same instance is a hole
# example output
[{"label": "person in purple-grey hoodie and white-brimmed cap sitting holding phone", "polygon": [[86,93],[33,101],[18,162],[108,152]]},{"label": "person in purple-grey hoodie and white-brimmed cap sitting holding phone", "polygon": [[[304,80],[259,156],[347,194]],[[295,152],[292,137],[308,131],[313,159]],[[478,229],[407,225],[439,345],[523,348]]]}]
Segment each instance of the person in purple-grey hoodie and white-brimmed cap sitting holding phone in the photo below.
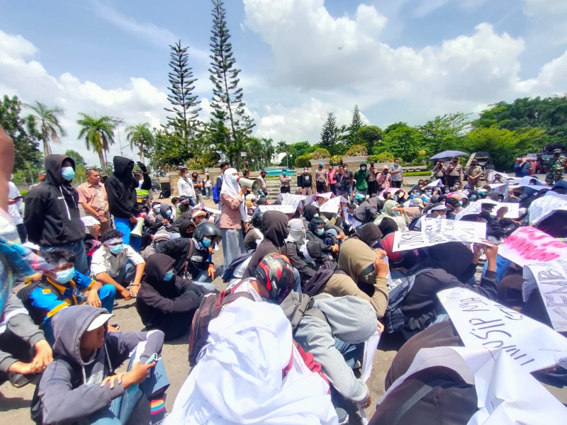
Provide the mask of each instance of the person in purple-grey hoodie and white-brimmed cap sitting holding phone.
[{"label": "person in purple-grey hoodie and white-brimmed cap sitting holding phone", "polygon": [[[55,315],[56,356],[38,385],[44,424],[126,424],[142,395],[151,423],[164,419],[163,332],[108,332],[111,316],[87,305]],[[128,371],[116,373],[128,357]]]}]

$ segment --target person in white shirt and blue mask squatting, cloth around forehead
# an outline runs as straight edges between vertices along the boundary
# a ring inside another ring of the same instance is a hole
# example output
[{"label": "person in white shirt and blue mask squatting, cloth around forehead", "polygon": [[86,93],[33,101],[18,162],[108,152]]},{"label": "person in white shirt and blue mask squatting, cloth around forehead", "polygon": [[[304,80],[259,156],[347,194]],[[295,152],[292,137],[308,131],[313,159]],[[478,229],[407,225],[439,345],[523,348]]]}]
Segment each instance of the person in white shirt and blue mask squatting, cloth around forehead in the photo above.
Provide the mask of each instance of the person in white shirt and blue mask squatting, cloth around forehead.
[{"label": "person in white shirt and blue mask squatting, cloth around forehead", "polygon": [[[130,300],[140,289],[145,261],[123,240],[122,232],[115,229],[101,234],[99,243],[102,246],[93,254],[91,273],[96,280],[113,285],[117,293],[125,300]],[[128,286],[130,290],[126,289]]]}]

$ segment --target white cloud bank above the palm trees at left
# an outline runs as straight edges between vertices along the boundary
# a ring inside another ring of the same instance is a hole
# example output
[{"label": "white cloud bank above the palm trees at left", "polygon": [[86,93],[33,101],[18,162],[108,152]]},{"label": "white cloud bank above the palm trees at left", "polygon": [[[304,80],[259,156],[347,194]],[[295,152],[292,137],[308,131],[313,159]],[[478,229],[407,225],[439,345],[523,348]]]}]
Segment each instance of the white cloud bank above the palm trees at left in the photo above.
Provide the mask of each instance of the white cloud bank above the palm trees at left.
[{"label": "white cloud bank above the palm trees at left", "polygon": [[[76,140],[79,112],[123,118],[126,125],[147,122],[159,127],[159,123],[165,121],[166,112],[163,108],[168,104],[167,95],[146,79],[133,77],[126,86],[105,89],[92,81],[81,81],[69,73],[56,78],[34,60],[37,54],[38,49],[21,35],[10,35],[0,30],[0,93],[16,95],[24,103],[40,101],[47,106],[65,109],[62,125],[69,136],[61,145],[52,147],[54,152],[75,149],[90,164],[98,164],[96,155],[86,151],[82,140]],[[124,129],[125,125],[122,125],[120,139],[123,146],[126,142]],[[116,145],[112,147],[109,158],[119,153],[116,137]],[[133,157],[129,147],[124,149],[124,154]]]}]

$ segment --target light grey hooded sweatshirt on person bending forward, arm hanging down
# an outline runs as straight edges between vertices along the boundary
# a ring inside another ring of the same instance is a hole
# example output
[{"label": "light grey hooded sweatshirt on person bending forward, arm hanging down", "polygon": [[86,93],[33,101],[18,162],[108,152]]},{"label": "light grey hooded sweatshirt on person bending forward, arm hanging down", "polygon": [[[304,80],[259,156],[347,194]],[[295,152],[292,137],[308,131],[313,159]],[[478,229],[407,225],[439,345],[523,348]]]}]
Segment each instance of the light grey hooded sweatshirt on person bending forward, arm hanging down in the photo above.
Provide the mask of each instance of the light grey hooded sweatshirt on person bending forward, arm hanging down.
[{"label": "light grey hooded sweatshirt on person bending forward, arm hanging down", "polygon": [[348,344],[367,341],[378,327],[374,308],[370,302],[353,296],[323,297],[315,300],[313,307],[325,314],[327,322],[306,314],[296,331],[296,341],[313,354],[340,395],[365,402],[370,394],[366,382],[357,379],[345,363],[335,348],[335,336]]}]

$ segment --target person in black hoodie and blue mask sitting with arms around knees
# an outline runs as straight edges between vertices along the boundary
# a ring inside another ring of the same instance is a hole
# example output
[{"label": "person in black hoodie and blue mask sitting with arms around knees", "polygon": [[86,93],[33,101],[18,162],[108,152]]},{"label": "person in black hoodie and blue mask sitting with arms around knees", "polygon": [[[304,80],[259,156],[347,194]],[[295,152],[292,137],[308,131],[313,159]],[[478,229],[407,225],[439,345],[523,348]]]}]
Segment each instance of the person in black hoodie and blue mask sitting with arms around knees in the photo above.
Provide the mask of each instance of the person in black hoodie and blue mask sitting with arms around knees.
[{"label": "person in black hoodie and blue mask sitting with arms around knees", "polygon": [[193,314],[208,293],[203,286],[175,276],[174,262],[164,254],[150,256],[136,297],[137,314],[146,329],[159,329],[166,341],[189,330]]}]

